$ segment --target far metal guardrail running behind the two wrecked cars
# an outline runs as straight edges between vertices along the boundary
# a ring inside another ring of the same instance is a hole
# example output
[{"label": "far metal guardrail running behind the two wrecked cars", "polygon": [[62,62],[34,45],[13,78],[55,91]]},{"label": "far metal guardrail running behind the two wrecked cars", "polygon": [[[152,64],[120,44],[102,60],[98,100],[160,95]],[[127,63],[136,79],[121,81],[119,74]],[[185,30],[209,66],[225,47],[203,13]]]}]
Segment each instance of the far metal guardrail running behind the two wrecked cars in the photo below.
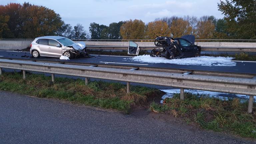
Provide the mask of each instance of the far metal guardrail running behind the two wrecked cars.
[{"label": "far metal guardrail running behind the two wrecked cars", "polygon": [[[155,46],[140,46],[140,50],[152,50]],[[86,45],[89,50],[128,50],[128,46]],[[201,47],[201,51],[256,52],[256,47]]]}]

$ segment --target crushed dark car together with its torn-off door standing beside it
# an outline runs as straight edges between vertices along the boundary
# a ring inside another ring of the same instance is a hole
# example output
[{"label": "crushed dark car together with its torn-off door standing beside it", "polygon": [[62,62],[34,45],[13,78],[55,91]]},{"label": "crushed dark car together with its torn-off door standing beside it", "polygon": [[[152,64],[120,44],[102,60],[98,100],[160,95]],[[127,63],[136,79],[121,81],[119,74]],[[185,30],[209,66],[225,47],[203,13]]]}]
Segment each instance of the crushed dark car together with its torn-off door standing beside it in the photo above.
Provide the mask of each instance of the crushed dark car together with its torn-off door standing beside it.
[{"label": "crushed dark car together with its torn-off door standing beside it", "polygon": [[[138,55],[139,46],[129,41],[128,54]],[[167,59],[179,59],[198,57],[201,55],[201,47],[195,45],[195,36],[185,35],[181,38],[157,37],[154,42],[156,48],[151,50],[151,57],[166,57]]]}]

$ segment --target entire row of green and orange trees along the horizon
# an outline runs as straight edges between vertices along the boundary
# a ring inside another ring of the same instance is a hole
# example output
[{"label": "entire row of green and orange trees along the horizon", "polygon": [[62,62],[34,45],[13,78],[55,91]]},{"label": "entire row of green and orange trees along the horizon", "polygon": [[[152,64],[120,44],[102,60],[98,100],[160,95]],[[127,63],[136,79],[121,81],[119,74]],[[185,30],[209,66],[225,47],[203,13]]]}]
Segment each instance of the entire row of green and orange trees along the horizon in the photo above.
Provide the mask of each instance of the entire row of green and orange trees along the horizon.
[{"label": "entire row of green and orange trees along the horizon", "polygon": [[127,20],[100,25],[90,24],[89,32],[81,24],[72,27],[59,14],[44,6],[29,3],[0,5],[0,38],[33,39],[58,35],[70,39],[154,39],[156,36],[181,37],[192,34],[197,39],[256,39],[255,0],[226,0],[218,3],[224,18],[214,16],[170,16],[144,23]]}]

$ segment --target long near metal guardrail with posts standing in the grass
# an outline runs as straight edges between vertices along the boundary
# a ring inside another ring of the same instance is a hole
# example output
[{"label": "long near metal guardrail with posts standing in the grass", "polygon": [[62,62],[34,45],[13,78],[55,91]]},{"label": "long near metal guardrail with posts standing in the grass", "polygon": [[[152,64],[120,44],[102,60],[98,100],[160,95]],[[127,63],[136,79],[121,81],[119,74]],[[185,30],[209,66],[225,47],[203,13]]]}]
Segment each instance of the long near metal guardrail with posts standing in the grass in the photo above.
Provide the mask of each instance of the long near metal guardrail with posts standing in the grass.
[{"label": "long near metal guardrail with posts standing in the grass", "polygon": [[35,71],[51,73],[53,82],[54,74],[86,77],[87,81],[88,78],[125,81],[127,82],[127,92],[129,92],[130,82],[177,87],[181,88],[181,99],[184,99],[184,88],[250,95],[248,113],[252,112],[253,97],[256,95],[256,79],[247,78],[186,75],[5,59],[0,60],[0,74],[2,74],[2,68],[23,70],[24,79],[26,78],[25,71]]}]

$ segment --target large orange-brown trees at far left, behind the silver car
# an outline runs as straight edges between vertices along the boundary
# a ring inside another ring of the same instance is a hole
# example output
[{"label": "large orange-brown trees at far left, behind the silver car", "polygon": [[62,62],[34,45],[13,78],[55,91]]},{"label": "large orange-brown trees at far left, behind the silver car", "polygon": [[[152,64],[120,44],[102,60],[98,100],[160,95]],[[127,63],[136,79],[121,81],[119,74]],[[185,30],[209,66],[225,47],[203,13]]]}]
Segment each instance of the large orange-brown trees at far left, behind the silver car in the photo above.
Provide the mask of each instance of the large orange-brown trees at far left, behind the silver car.
[{"label": "large orange-brown trees at far left, behind the silver car", "polygon": [[44,6],[24,3],[9,3],[0,5],[0,19],[8,25],[9,34],[2,32],[2,38],[29,38],[55,35],[63,25],[59,14]]}]

